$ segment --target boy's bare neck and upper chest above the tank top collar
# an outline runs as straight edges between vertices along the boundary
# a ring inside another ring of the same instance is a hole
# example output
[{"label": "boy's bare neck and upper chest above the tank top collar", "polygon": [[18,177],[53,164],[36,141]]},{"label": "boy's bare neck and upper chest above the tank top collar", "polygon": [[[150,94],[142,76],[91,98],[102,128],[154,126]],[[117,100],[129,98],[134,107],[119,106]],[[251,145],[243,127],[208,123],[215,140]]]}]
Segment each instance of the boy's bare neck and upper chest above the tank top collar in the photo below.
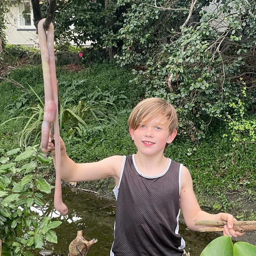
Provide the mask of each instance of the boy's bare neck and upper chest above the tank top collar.
[{"label": "boy's bare neck and upper chest above the tank top collar", "polygon": [[134,155],[134,159],[140,172],[147,176],[155,176],[163,173],[169,162],[168,158],[163,154],[146,156],[137,152]]}]

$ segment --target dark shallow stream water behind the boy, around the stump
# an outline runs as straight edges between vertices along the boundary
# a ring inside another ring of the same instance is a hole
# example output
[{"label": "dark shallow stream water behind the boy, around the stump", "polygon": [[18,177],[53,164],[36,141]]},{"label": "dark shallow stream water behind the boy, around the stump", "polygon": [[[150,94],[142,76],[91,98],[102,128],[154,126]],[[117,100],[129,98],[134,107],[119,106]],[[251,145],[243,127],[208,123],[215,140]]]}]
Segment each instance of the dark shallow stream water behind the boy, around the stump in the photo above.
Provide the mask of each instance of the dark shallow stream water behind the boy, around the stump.
[{"label": "dark shallow stream water behind the boy, around the stump", "polygon": [[[63,219],[57,233],[58,244],[46,243],[42,250],[52,251],[51,255],[67,256],[68,246],[75,239],[78,230],[83,230],[86,240],[98,239],[87,256],[108,256],[113,243],[113,230],[115,220],[115,208],[111,204],[115,201],[98,198],[93,193],[78,189],[63,187],[63,201],[68,206],[68,215],[59,216],[53,212],[53,195],[50,195],[48,204],[44,208],[46,215],[52,217],[52,221]],[[180,232],[186,242],[186,251],[190,256],[199,256],[203,248],[220,236],[221,233],[199,233],[186,229],[186,225],[180,222]],[[39,254],[39,251],[36,252]]]}]

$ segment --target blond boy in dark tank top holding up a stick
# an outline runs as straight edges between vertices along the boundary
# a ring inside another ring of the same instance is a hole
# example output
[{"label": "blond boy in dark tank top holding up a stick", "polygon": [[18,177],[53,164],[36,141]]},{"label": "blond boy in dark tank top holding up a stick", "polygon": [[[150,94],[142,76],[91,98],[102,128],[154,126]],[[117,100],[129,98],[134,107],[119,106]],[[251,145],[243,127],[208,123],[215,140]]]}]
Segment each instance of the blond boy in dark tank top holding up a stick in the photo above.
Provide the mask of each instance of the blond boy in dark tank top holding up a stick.
[{"label": "blond boy in dark tank top holding up a stick", "polygon": [[[235,218],[227,213],[202,211],[193,192],[188,169],[163,154],[177,135],[174,107],[159,98],[137,104],[128,119],[137,147],[132,156],[111,156],[94,163],[77,164],[66,154],[61,140],[61,178],[89,181],[112,177],[116,182],[116,220],[110,256],[182,256],[185,242],[179,231],[180,208],[186,225],[198,230],[194,220],[225,220],[224,235],[235,232]],[[54,149],[52,142],[48,150]],[[54,151],[51,151],[55,163]]]}]

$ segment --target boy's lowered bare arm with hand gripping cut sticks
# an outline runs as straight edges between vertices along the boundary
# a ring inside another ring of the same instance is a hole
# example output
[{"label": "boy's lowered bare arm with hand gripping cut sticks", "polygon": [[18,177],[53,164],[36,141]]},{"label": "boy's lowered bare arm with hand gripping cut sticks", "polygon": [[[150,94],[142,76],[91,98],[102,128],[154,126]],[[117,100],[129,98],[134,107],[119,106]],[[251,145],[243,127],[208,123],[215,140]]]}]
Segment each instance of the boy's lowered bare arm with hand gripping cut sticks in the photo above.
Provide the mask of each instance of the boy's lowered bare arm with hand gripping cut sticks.
[{"label": "boy's lowered bare arm with hand gripping cut sticks", "polygon": [[202,211],[198,205],[193,191],[192,178],[189,170],[183,166],[181,174],[180,207],[188,228],[198,231],[201,226],[195,226],[194,220],[225,220],[228,225],[224,226],[224,235],[230,237],[241,236],[243,233],[233,230],[233,222],[236,219],[228,213],[210,214]]}]

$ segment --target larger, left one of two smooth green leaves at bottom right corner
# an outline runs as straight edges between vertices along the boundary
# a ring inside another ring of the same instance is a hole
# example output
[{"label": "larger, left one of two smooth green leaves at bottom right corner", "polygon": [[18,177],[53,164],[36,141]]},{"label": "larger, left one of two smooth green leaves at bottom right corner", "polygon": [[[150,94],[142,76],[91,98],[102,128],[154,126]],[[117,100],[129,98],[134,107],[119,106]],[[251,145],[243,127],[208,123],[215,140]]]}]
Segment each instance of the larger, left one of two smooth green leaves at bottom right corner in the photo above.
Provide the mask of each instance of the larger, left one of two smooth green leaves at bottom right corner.
[{"label": "larger, left one of two smooth green leaves at bottom right corner", "polygon": [[200,256],[233,256],[233,243],[229,236],[221,236],[211,241]]}]

